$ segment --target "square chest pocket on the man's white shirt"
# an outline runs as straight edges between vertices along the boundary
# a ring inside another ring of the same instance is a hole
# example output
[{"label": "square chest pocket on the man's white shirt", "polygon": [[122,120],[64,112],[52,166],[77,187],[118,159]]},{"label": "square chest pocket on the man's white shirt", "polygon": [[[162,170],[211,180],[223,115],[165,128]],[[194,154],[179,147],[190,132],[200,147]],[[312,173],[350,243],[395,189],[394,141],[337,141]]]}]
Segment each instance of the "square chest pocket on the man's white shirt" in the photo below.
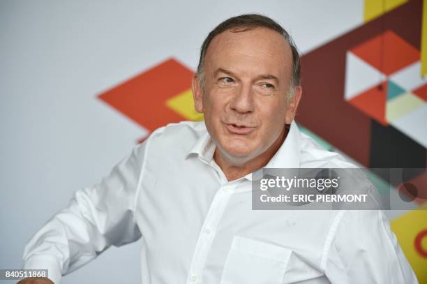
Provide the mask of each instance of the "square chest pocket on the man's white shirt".
[{"label": "square chest pocket on the man's white shirt", "polygon": [[235,236],[220,284],[282,283],[291,253],[281,246]]}]

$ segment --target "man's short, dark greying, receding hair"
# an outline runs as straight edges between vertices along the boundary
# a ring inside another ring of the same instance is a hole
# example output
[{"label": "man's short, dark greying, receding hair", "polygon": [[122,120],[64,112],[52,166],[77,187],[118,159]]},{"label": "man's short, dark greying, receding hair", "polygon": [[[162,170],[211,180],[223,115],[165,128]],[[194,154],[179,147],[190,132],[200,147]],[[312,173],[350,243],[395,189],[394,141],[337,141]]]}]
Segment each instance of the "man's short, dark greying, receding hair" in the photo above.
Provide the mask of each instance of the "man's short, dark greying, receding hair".
[{"label": "man's short, dark greying, receding hair", "polygon": [[197,66],[197,77],[199,77],[200,86],[202,89],[204,89],[204,63],[206,60],[206,52],[213,38],[218,36],[218,34],[223,33],[223,31],[231,30],[232,32],[238,33],[242,31],[248,31],[249,29],[256,27],[265,27],[267,29],[277,31],[283,36],[283,38],[285,38],[287,43],[289,43],[292,50],[292,76],[287,99],[290,100],[292,98],[294,95],[294,88],[301,84],[301,62],[299,59],[297,46],[295,45],[294,40],[292,40],[290,34],[287,33],[287,31],[283,29],[280,24],[269,17],[259,14],[245,14],[236,17],[230,17],[224,22],[218,24],[218,26],[209,33],[207,38],[204,39],[202,48],[200,49],[199,64]]}]

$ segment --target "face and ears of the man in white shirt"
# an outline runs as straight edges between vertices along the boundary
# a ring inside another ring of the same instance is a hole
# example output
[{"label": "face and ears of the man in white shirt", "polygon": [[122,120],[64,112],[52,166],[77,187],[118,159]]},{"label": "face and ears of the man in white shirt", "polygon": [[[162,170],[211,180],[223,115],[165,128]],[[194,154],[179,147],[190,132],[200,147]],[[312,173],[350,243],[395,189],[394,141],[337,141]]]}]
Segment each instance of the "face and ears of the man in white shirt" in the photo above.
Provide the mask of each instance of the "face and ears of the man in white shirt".
[{"label": "face and ears of the man in white shirt", "polygon": [[204,89],[197,77],[197,112],[213,142],[229,159],[250,160],[264,153],[290,124],[301,96],[287,103],[292,51],[271,29],[225,31],[213,38],[204,65]]}]

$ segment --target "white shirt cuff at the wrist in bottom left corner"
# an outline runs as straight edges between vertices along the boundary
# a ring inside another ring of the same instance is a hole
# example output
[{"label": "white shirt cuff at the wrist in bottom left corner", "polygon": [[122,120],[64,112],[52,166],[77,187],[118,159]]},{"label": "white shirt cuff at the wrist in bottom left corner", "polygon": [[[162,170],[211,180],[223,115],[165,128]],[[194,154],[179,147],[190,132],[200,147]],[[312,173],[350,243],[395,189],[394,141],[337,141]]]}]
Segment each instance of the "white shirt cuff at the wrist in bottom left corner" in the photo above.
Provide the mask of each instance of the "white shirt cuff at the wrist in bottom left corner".
[{"label": "white shirt cuff at the wrist in bottom left corner", "polygon": [[54,284],[61,282],[61,266],[54,259],[46,255],[33,255],[24,261],[23,269],[47,269],[47,278]]}]

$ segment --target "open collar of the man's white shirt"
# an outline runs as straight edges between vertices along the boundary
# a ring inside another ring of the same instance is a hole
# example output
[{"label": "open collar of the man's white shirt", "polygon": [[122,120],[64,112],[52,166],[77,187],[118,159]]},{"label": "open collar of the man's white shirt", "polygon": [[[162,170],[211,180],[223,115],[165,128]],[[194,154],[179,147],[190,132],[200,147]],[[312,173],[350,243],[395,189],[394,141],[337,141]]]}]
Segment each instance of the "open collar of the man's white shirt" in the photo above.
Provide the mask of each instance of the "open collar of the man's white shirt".
[{"label": "open collar of the man's white shirt", "polygon": [[[269,168],[288,168],[297,169],[300,165],[301,158],[301,132],[295,121],[292,121],[290,129],[287,132],[285,141],[280,146],[273,158],[269,160],[269,163],[265,167]],[[215,152],[216,145],[213,143],[211,136],[207,132],[197,140],[197,142],[190,149],[188,154],[197,154],[200,160],[204,163],[211,163],[213,153]],[[246,179],[252,180],[252,174],[247,174]]]}]

